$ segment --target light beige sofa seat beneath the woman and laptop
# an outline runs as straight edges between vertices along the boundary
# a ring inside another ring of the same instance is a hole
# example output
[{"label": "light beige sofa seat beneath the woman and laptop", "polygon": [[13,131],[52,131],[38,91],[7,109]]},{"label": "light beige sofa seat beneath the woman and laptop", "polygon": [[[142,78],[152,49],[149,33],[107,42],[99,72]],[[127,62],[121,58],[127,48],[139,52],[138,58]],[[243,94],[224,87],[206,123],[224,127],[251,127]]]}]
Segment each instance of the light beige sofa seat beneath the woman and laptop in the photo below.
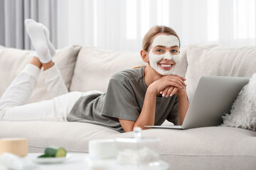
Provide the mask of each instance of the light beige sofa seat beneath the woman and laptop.
[{"label": "light beige sofa seat beneath the woman and laptop", "polygon": [[[33,127],[33,128],[31,128]],[[89,140],[133,137],[133,132],[89,123],[0,122],[0,138],[28,138],[28,152],[48,145],[68,152],[88,152]],[[252,169],[256,166],[256,132],[240,128],[208,127],[189,130],[142,130],[142,137],[159,137],[159,154],[172,169]],[[74,145],[75,144],[75,145]]]}]

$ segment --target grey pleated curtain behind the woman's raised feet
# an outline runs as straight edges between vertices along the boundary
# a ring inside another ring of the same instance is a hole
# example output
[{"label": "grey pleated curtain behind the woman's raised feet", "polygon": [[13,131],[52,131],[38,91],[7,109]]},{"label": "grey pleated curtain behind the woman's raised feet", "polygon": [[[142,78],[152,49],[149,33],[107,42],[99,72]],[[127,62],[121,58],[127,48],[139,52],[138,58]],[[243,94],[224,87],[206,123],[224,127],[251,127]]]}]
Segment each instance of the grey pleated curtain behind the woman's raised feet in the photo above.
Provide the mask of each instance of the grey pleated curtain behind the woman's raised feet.
[{"label": "grey pleated curtain behind the woman's raised feet", "polygon": [[32,49],[24,20],[33,18],[49,28],[50,40],[57,46],[56,3],[56,0],[0,0],[0,45]]}]

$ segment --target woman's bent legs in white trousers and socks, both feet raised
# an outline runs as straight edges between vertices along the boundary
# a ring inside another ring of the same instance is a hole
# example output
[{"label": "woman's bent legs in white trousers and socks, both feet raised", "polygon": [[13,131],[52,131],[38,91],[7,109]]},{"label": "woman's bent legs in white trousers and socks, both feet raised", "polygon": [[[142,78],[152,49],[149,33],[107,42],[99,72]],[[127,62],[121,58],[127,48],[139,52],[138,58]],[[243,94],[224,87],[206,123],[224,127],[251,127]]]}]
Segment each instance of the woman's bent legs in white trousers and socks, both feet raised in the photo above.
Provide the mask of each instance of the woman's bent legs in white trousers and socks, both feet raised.
[{"label": "woman's bent legs in white trousers and socks, both feet raised", "polygon": [[[48,40],[47,28],[32,20],[26,20],[25,23],[37,56],[33,57],[1,96],[0,120],[66,120],[66,115],[82,94],[68,94],[60,71],[51,60],[51,54],[55,54],[55,49]],[[26,104],[41,67],[44,68],[46,89],[53,99]]]}]

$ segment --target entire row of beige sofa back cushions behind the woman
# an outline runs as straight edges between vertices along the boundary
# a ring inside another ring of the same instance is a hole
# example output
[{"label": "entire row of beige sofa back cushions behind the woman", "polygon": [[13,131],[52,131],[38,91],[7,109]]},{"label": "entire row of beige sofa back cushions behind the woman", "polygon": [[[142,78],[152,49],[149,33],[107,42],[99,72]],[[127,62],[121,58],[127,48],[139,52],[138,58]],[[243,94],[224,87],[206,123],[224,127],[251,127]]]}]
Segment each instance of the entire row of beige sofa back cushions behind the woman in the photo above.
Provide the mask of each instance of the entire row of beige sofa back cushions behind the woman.
[{"label": "entire row of beige sofa back cushions behind the woman", "polygon": [[[32,56],[33,51],[0,46],[0,96]],[[58,50],[53,61],[70,91],[106,91],[112,74],[145,64],[139,52],[102,50],[87,46],[81,48],[78,45]],[[191,101],[200,77],[251,77],[256,72],[255,64],[256,47],[187,45],[181,47],[176,74],[186,78],[188,99]],[[40,76],[29,102],[48,98],[43,77]]]}]

